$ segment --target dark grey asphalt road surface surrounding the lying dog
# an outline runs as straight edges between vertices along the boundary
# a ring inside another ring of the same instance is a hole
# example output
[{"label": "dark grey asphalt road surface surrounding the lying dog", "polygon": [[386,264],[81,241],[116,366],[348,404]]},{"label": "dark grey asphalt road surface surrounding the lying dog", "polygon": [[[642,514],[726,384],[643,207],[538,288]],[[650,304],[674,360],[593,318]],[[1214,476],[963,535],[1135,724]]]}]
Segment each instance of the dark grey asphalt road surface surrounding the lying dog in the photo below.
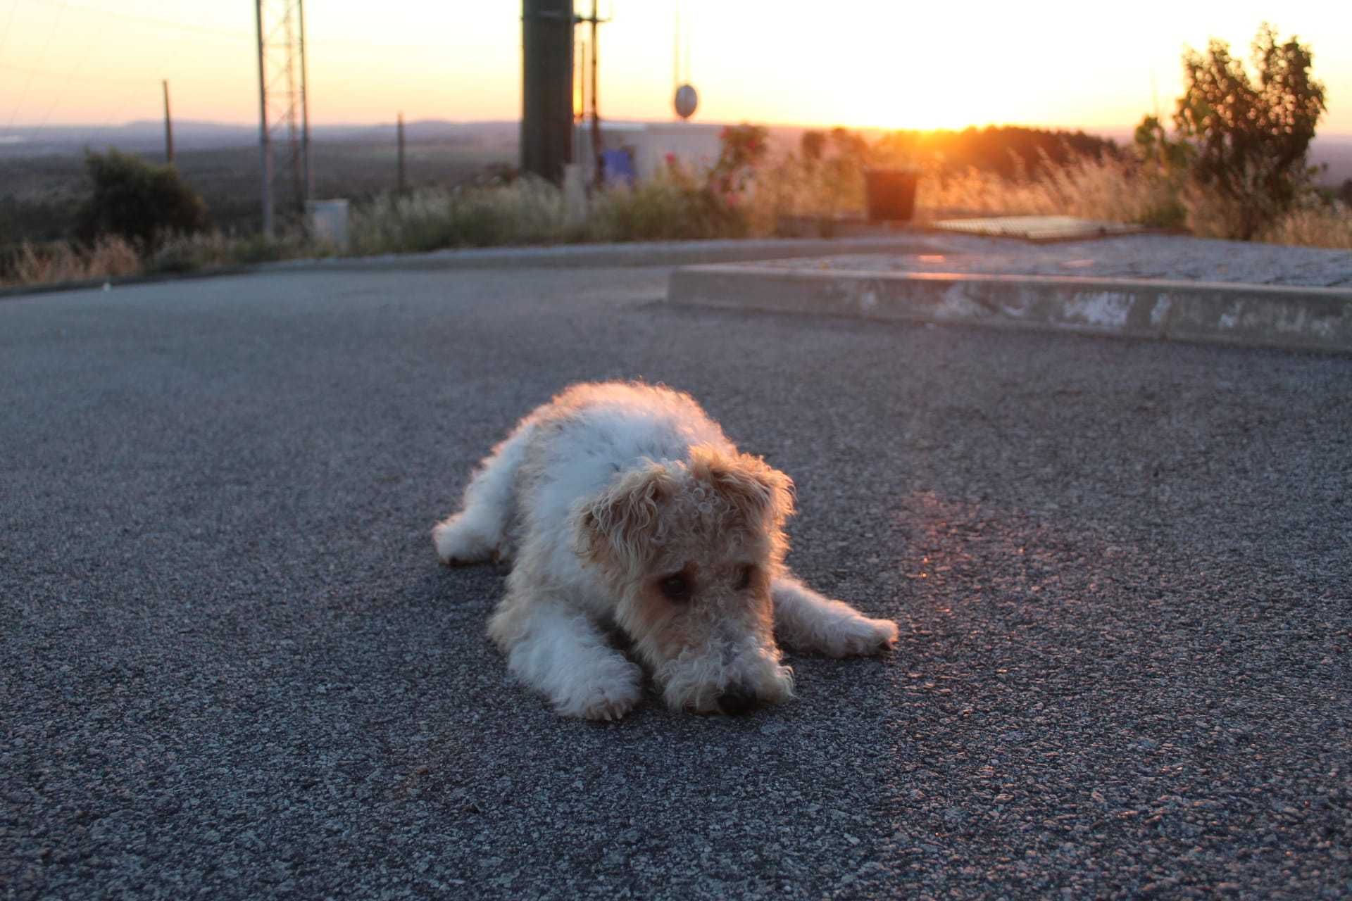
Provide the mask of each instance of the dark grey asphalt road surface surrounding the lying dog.
[{"label": "dark grey asphalt road surface surrounding the lying dog", "polygon": [[[0,897],[1345,897],[1352,359],[660,303],[665,270],[0,303]],[[557,719],[429,530],[575,380],[699,397],[895,617]]]}]

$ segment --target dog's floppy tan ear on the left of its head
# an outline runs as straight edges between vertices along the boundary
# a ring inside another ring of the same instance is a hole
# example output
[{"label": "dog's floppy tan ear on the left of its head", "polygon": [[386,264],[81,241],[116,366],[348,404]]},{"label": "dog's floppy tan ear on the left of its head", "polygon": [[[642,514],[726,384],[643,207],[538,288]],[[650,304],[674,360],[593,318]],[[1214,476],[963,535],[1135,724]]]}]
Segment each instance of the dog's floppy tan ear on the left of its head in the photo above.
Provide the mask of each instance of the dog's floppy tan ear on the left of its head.
[{"label": "dog's floppy tan ear on the left of its head", "polygon": [[660,511],[676,490],[660,463],[625,473],[575,512],[575,540],[583,559],[638,571],[660,539]]}]

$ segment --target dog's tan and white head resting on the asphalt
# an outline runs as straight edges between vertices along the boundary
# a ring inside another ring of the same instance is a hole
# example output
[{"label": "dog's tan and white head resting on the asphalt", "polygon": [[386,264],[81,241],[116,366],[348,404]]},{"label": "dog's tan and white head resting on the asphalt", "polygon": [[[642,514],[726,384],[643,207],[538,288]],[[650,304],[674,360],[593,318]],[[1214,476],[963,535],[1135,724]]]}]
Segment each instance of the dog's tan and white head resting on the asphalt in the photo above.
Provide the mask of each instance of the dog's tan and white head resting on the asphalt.
[{"label": "dog's tan and white head resting on the asphalt", "polygon": [[672,708],[735,713],[792,694],[771,605],[792,512],[787,475],[713,447],[625,471],[575,509],[577,552]]}]

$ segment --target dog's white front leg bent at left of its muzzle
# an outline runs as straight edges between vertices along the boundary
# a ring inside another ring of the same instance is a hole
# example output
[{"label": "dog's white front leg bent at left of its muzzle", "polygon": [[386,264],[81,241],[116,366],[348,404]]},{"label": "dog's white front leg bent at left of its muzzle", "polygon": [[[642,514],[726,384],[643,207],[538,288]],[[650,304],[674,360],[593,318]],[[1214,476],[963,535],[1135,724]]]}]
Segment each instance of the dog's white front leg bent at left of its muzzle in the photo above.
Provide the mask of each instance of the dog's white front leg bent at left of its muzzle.
[{"label": "dog's white front leg bent at left of its muzzle", "polygon": [[642,696],[642,670],[562,602],[508,592],[488,635],[507,654],[511,671],[562,716],[618,720]]}]

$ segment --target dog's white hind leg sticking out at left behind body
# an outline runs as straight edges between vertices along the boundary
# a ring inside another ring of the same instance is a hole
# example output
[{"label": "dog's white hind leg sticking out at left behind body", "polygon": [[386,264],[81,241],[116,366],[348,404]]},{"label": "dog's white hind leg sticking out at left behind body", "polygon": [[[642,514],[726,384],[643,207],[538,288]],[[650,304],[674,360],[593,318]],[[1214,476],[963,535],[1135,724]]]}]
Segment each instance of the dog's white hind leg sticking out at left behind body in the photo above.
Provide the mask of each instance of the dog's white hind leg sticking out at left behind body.
[{"label": "dog's white hind leg sticking out at left behind body", "polygon": [[431,531],[442,563],[481,563],[506,557],[503,538],[511,513],[516,470],[526,457],[533,424],[521,426],[479,465],[461,509]]}]

